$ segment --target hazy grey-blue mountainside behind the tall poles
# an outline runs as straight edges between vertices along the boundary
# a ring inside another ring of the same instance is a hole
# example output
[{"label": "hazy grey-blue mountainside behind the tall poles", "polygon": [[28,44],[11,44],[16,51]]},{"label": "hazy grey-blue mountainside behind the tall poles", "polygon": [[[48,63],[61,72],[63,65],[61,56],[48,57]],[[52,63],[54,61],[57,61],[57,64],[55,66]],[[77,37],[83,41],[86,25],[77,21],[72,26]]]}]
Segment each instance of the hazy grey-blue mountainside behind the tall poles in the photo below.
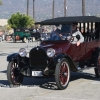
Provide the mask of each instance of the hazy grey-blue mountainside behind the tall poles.
[{"label": "hazy grey-blue mountainside behind the tall poles", "polygon": [[[82,0],[66,0],[67,16],[82,15]],[[33,16],[33,0],[29,0],[29,15]],[[8,19],[13,13],[26,14],[27,0],[2,0],[0,19]],[[100,15],[100,0],[85,0],[87,15]],[[55,17],[64,16],[64,0],[55,0]],[[52,0],[35,0],[35,20],[52,18]]]}]

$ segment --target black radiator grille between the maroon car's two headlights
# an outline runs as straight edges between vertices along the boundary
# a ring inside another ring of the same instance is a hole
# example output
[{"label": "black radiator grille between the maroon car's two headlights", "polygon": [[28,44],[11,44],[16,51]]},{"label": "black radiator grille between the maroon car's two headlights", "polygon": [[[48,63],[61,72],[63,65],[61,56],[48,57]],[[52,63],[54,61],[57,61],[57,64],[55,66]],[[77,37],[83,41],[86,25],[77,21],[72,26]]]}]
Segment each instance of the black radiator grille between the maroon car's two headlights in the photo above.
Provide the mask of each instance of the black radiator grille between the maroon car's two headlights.
[{"label": "black radiator grille between the maroon car's two headlights", "polygon": [[47,66],[47,55],[40,47],[33,48],[29,54],[30,65],[34,68],[45,68]]}]

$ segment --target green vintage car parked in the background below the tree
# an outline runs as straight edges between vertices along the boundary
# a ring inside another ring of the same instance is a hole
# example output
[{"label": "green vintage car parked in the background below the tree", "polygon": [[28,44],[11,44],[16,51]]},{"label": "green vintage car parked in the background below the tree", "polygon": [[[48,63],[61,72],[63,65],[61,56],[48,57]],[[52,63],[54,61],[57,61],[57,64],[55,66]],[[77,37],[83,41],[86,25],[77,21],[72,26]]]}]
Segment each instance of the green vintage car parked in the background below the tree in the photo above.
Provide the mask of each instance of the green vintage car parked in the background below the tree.
[{"label": "green vintage car parked in the background below the tree", "polygon": [[25,28],[15,28],[13,42],[22,40],[22,42],[26,42],[26,40],[30,37],[30,31]]}]

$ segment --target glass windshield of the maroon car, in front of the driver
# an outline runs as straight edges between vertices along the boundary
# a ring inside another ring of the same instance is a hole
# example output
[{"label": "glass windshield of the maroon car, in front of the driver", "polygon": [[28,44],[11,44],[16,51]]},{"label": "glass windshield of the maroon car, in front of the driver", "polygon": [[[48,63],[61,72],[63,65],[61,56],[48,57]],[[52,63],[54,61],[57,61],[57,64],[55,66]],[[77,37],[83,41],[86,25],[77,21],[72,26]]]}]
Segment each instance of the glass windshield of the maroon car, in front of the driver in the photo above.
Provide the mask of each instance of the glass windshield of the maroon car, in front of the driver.
[{"label": "glass windshield of the maroon car, in front of the driver", "polygon": [[71,38],[71,25],[59,25],[42,28],[42,41],[61,41],[69,40]]}]

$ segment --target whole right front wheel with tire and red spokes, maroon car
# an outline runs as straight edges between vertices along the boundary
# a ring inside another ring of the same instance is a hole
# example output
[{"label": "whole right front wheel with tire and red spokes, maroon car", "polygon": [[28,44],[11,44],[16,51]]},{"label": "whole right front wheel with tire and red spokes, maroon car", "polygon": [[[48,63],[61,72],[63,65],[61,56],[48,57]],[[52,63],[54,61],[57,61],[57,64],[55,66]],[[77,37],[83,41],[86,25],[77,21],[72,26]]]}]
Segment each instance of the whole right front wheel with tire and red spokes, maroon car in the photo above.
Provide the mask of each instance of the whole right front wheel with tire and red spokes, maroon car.
[{"label": "whole right front wheel with tire and red spokes, maroon car", "polygon": [[67,59],[63,58],[55,68],[55,81],[58,89],[66,89],[70,81],[70,68]]}]

